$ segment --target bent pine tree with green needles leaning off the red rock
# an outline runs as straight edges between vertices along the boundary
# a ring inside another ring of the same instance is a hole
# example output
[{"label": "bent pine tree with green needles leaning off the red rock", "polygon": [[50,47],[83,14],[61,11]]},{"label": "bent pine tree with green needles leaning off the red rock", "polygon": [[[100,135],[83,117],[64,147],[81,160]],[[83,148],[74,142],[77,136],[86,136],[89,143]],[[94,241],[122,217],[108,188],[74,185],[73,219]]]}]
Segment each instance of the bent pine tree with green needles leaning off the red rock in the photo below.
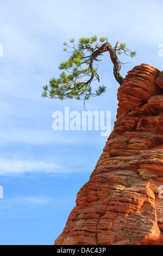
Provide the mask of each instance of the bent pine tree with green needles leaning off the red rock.
[{"label": "bent pine tree with green needles leaning off the red rock", "polygon": [[112,47],[108,40],[104,37],[97,40],[97,36],[91,38],[80,38],[78,45],[75,46],[74,39],[70,39],[70,45],[64,42],[64,51],[70,53],[68,60],[59,65],[59,69],[63,70],[59,78],[54,77],[49,80],[49,86],[43,87],[43,97],[52,99],[83,99],[89,100],[90,97],[96,97],[105,92],[105,86],[99,86],[95,92],[92,92],[91,83],[95,80],[99,82],[97,73],[98,65],[102,59],[98,59],[104,52],[109,51],[111,61],[114,65],[114,76],[119,84],[122,84],[124,78],[120,74],[121,63],[118,55],[126,54],[133,58],[136,52],[132,52],[126,47],[126,43],[119,43]]}]

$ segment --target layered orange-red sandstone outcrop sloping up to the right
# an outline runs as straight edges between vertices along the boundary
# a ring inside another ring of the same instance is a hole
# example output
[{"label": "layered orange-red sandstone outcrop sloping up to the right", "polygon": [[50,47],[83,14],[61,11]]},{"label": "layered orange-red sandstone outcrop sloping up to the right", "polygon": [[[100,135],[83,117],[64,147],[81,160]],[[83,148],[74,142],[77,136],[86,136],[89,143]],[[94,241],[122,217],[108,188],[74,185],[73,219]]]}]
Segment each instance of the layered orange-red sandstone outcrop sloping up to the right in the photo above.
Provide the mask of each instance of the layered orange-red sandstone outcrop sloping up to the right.
[{"label": "layered orange-red sandstone outcrop sloping up to the right", "polygon": [[163,71],[135,66],[117,98],[114,130],[54,245],[163,245]]}]

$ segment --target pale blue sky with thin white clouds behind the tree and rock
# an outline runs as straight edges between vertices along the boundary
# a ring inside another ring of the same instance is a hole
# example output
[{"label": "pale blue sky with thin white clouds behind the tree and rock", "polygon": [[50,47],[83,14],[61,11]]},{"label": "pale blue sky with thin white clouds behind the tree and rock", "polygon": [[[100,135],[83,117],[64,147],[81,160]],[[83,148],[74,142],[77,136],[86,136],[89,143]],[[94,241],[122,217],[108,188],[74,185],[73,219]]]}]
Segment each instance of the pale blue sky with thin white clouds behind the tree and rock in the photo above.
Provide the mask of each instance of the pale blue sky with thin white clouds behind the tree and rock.
[{"label": "pale blue sky with thin white clouds behind the tree and rock", "polygon": [[[92,35],[105,36],[112,46],[126,42],[137,55],[122,58],[132,62],[122,68],[123,77],[141,63],[162,70],[162,11],[161,0],[1,0],[1,245],[53,245],[107,140],[101,131],[52,129],[54,111],[84,111],[83,101],[41,97],[69,57],[63,42]],[[111,111],[111,129],[118,89],[112,69],[105,53],[98,74],[107,90],[86,102],[92,112]]]}]

